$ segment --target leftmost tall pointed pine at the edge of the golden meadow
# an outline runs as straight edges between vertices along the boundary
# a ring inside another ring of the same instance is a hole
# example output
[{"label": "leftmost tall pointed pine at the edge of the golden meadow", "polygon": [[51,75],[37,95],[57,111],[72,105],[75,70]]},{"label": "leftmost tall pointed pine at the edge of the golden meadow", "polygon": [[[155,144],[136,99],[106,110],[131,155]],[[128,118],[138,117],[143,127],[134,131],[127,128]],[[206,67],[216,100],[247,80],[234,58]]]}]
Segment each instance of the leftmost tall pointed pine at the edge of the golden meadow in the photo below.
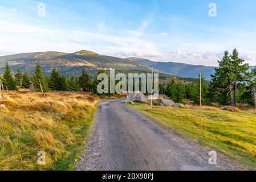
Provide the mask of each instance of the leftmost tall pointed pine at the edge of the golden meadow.
[{"label": "leftmost tall pointed pine at the edge of the golden meadow", "polygon": [[14,79],[13,74],[11,73],[8,63],[5,65],[5,73],[3,73],[3,86],[6,90],[18,90],[17,81]]}]

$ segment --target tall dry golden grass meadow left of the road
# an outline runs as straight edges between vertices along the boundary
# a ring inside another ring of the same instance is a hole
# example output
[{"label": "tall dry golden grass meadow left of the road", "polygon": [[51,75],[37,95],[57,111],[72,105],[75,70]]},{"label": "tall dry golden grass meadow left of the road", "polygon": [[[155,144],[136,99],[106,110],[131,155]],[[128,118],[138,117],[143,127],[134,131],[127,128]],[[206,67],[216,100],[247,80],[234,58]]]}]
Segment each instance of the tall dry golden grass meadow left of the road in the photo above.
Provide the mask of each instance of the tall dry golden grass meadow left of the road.
[{"label": "tall dry golden grass meadow left of the road", "polygon": [[[72,169],[98,101],[85,93],[3,93],[0,170]],[[46,152],[45,166],[36,163],[39,151]]]}]

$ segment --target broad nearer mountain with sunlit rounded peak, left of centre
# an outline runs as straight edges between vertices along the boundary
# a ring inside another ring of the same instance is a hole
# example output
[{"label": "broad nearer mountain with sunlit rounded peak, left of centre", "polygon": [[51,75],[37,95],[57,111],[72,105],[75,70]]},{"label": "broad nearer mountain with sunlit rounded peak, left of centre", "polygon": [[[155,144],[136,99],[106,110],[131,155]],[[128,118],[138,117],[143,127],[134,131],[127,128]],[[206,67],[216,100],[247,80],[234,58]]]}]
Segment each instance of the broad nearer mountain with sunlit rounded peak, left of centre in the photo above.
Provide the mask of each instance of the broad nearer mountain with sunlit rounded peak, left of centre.
[{"label": "broad nearer mountain with sunlit rounded peak, left of centre", "polygon": [[97,72],[98,69],[116,69],[117,71],[140,71],[151,72],[147,65],[136,61],[121,59],[119,57],[104,56],[98,53],[81,50],[74,53],[63,52],[35,52],[20,53],[17,55],[0,57],[0,73],[4,71],[5,63],[8,62],[11,69],[17,69],[29,73],[34,72],[37,62],[42,66],[43,72],[50,74],[53,68],[58,68],[60,72],[67,76],[80,74],[82,68],[88,72]]}]

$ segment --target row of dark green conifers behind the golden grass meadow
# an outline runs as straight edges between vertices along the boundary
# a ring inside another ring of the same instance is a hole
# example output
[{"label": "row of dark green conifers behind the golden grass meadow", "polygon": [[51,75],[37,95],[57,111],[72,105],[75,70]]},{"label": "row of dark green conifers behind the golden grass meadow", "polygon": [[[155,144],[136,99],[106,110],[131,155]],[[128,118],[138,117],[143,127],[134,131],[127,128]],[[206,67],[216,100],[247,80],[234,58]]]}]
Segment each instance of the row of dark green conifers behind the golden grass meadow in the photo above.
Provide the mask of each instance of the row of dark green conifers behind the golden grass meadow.
[{"label": "row of dark green conifers behind the golden grass meadow", "polygon": [[30,89],[36,92],[49,91],[84,91],[89,92],[92,89],[95,92],[95,81],[91,81],[85,69],[82,70],[80,76],[71,76],[67,78],[57,69],[53,69],[50,76],[43,75],[40,64],[36,64],[34,75],[30,76],[27,71],[22,73],[17,71],[15,74],[11,72],[9,64],[5,65],[5,72],[0,76],[5,90],[18,90],[19,88]]}]

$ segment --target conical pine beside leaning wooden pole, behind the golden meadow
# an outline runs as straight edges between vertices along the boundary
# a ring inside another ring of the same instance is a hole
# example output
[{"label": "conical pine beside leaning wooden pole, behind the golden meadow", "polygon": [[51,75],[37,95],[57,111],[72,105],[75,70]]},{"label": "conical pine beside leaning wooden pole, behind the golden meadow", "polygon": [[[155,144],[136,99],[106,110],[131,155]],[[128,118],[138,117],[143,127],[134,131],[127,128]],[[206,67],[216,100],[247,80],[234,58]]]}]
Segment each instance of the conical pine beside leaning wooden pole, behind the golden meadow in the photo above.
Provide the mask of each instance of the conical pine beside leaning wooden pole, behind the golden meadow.
[{"label": "conical pine beside leaning wooden pole, behind the golden meadow", "polygon": [[34,76],[32,77],[32,81],[33,81],[34,89],[36,90],[36,92],[41,92],[41,86],[42,86],[43,92],[48,91],[46,81],[42,72],[42,68],[39,63],[36,64],[35,73],[34,73]]}]

